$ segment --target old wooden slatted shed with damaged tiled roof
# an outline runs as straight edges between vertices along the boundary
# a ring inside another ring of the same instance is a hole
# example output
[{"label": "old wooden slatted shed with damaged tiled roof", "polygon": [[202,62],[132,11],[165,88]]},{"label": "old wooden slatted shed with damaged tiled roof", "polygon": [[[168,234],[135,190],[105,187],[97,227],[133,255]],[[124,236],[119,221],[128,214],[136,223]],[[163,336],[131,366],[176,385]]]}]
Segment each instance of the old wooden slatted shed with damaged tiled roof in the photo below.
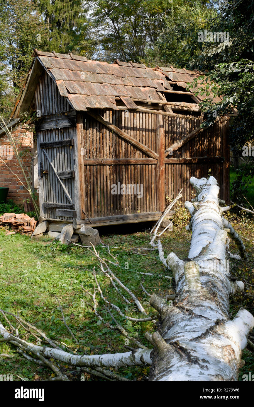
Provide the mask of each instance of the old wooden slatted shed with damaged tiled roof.
[{"label": "old wooden slatted shed with damaged tiled roof", "polygon": [[199,126],[186,69],[35,50],[12,118],[35,112],[41,220],[91,226],[159,219],[188,179],[229,200],[228,118]]}]

